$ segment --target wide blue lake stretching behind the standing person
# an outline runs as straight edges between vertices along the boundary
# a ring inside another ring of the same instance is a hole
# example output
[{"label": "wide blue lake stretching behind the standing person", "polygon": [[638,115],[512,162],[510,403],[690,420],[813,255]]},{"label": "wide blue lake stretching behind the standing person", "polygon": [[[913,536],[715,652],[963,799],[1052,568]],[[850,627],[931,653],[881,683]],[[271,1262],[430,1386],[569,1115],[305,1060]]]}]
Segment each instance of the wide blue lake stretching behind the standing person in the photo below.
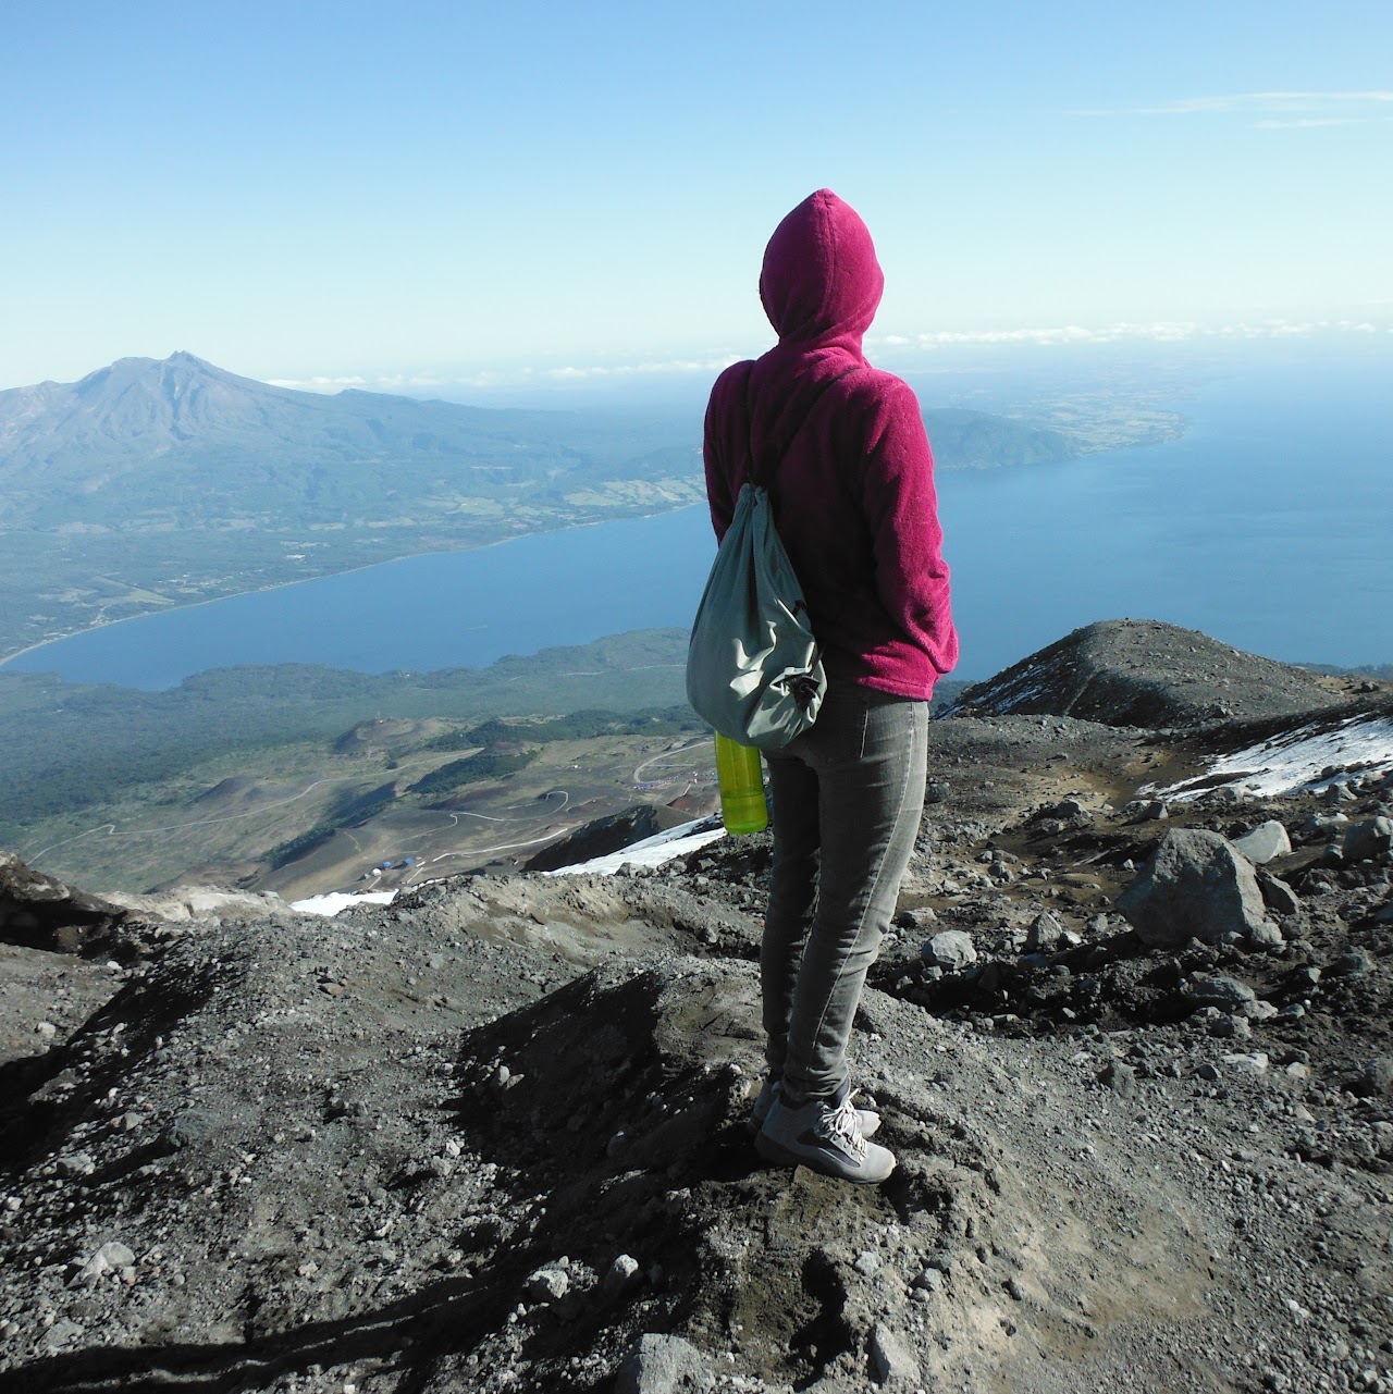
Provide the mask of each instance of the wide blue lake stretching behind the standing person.
[{"label": "wide blue lake stretching behind the standing person", "polygon": [[[1393,662],[1393,392],[1373,358],[1230,372],[1184,439],[1063,466],[945,471],[962,633],[984,677],[1121,616],[1308,662]],[[690,622],[701,507],[389,562],[59,640],[8,666],[165,687],[206,668],[484,666]]]}]

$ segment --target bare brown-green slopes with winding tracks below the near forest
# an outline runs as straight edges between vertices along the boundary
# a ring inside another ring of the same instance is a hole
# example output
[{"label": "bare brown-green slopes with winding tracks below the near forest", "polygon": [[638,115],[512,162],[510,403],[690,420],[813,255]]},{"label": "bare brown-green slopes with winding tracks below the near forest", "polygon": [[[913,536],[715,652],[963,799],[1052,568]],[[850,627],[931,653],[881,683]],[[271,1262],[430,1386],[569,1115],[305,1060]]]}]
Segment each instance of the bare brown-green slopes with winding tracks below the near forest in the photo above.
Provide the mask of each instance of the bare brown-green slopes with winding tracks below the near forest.
[{"label": "bare brown-green slopes with winding tracks below the near forest", "polygon": [[[388,728],[381,740],[372,739],[378,725]],[[531,753],[524,768],[413,792],[480,753],[421,749],[449,729],[441,721],[363,723],[328,747],[301,742],[220,757],[158,789],[40,824],[17,850],[54,875],[105,889],[212,881],[297,899],[522,863],[639,803],[678,802],[673,822],[715,803],[710,746],[697,732],[533,744],[527,722],[509,728]]]}]

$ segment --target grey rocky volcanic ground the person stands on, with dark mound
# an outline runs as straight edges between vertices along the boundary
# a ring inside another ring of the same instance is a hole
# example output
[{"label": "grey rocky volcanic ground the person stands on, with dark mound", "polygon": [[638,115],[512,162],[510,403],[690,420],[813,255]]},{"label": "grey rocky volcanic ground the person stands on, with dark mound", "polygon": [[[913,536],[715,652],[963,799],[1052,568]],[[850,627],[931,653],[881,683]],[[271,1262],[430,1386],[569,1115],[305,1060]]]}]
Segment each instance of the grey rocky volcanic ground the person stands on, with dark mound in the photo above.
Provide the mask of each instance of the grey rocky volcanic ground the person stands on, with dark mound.
[{"label": "grey rocky volcanic ground the person stands on, with dark mound", "polygon": [[1393,779],[1206,778],[1393,708],[1182,633],[936,725],[878,1188],[749,1144],[767,836],[328,921],[0,867],[0,1390],[1393,1391]]}]

